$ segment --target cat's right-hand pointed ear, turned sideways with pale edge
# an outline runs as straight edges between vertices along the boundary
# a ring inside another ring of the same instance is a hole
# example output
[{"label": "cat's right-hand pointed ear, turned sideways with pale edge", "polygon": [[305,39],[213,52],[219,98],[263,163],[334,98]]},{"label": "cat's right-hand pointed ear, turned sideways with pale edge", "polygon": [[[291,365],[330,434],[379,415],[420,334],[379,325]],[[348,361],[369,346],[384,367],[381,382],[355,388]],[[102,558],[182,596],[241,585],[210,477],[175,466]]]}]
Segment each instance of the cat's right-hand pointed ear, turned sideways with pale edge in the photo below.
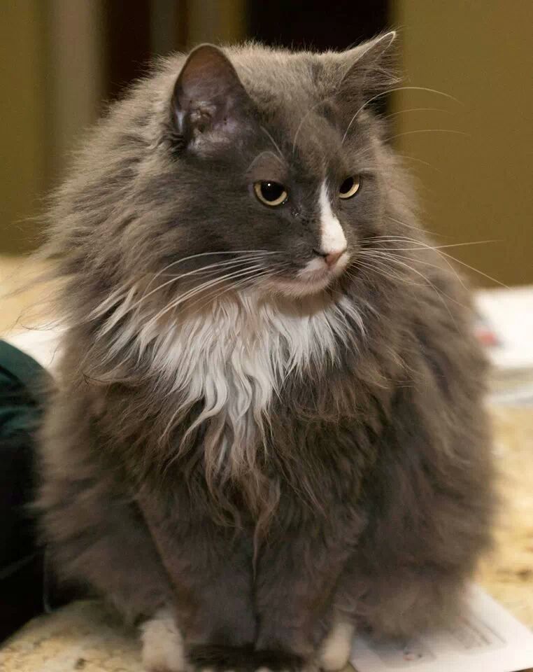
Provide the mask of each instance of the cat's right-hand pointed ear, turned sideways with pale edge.
[{"label": "cat's right-hand pointed ear, turned sideways with pale edge", "polygon": [[397,32],[392,30],[343,52],[346,68],[337,89],[344,102],[361,102],[381,94],[399,82],[397,74]]}]

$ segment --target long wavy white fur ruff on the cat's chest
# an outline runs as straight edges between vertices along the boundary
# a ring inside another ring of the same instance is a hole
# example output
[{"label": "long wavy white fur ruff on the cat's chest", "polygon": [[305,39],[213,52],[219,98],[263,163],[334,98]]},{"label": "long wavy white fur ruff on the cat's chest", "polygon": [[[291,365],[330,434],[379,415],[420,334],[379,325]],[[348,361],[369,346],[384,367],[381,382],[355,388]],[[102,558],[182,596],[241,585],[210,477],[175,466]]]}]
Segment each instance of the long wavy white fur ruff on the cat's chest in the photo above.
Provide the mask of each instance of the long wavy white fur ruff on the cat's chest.
[{"label": "long wavy white fur ruff on the cat's chest", "polygon": [[287,375],[303,376],[311,363],[335,360],[339,340],[350,340],[347,314],[360,324],[346,297],[310,311],[240,295],[183,315],[157,335],[152,365],[170,377],[183,407],[203,402],[189,429],[209,420],[205,449],[215,452],[218,464],[242,466],[264,435],[271,400]]}]

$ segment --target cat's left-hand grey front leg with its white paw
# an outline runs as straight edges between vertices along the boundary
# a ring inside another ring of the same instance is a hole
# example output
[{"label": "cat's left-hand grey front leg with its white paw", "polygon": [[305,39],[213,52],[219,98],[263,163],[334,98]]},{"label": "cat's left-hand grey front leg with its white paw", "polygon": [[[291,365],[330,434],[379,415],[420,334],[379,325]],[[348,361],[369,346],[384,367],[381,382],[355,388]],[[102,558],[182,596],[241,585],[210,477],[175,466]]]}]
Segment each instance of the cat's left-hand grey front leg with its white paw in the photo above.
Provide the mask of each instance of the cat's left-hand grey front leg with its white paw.
[{"label": "cat's left-hand grey front leg with its white paw", "polygon": [[[256,633],[251,542],[200,514],[185,520],[177,513],[183,508],[162,514],[157,505],[143,502],[173,585],[173,615],[179,628],[178,632],[168,612],[148,622],[143,635],[145,659],[154,659],[148,646],[157,648],[164,639],[162,659],[173,649],[176,661],[176,667],[167,665],[169,672],[175,668],[241,670],[250,659]],[[180,636],[183,654],[178,655]]]}]

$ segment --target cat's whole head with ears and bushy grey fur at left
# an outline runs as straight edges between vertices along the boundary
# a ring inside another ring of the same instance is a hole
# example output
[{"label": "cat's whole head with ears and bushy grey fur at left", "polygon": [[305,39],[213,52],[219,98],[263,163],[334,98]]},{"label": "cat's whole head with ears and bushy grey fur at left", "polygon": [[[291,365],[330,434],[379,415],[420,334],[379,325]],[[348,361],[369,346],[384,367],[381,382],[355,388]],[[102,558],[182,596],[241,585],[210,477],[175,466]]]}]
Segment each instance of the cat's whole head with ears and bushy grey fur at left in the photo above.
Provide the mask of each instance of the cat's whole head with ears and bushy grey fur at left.
[{"label": "cat's whole head with ears and bushy grey fur at left", "polygon": [[349,278],[360,241],[386,231],[369,103],[394,85],[394,39],[323,54],[201,45],[167,59],[87,146],[70,245],[85,237],[125,286],[157,275],[175,295],[231,284],[304,296]]}]

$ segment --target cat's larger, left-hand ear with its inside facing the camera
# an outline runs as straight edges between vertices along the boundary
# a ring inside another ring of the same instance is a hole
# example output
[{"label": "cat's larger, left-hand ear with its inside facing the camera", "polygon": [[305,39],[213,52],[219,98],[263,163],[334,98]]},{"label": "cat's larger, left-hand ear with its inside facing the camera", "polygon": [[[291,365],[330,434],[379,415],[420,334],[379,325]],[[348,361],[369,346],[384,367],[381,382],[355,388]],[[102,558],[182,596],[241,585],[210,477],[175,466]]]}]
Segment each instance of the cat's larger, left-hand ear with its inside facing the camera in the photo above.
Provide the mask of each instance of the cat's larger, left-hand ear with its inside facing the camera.
[{"label": "cat's larger, left-hand ear with its inside facing the camera", "polygon": [[180,144],[192,151],[234,141],[252,103],[222,50],[202,44],[190,52],[174,85],[171,114]]}]

